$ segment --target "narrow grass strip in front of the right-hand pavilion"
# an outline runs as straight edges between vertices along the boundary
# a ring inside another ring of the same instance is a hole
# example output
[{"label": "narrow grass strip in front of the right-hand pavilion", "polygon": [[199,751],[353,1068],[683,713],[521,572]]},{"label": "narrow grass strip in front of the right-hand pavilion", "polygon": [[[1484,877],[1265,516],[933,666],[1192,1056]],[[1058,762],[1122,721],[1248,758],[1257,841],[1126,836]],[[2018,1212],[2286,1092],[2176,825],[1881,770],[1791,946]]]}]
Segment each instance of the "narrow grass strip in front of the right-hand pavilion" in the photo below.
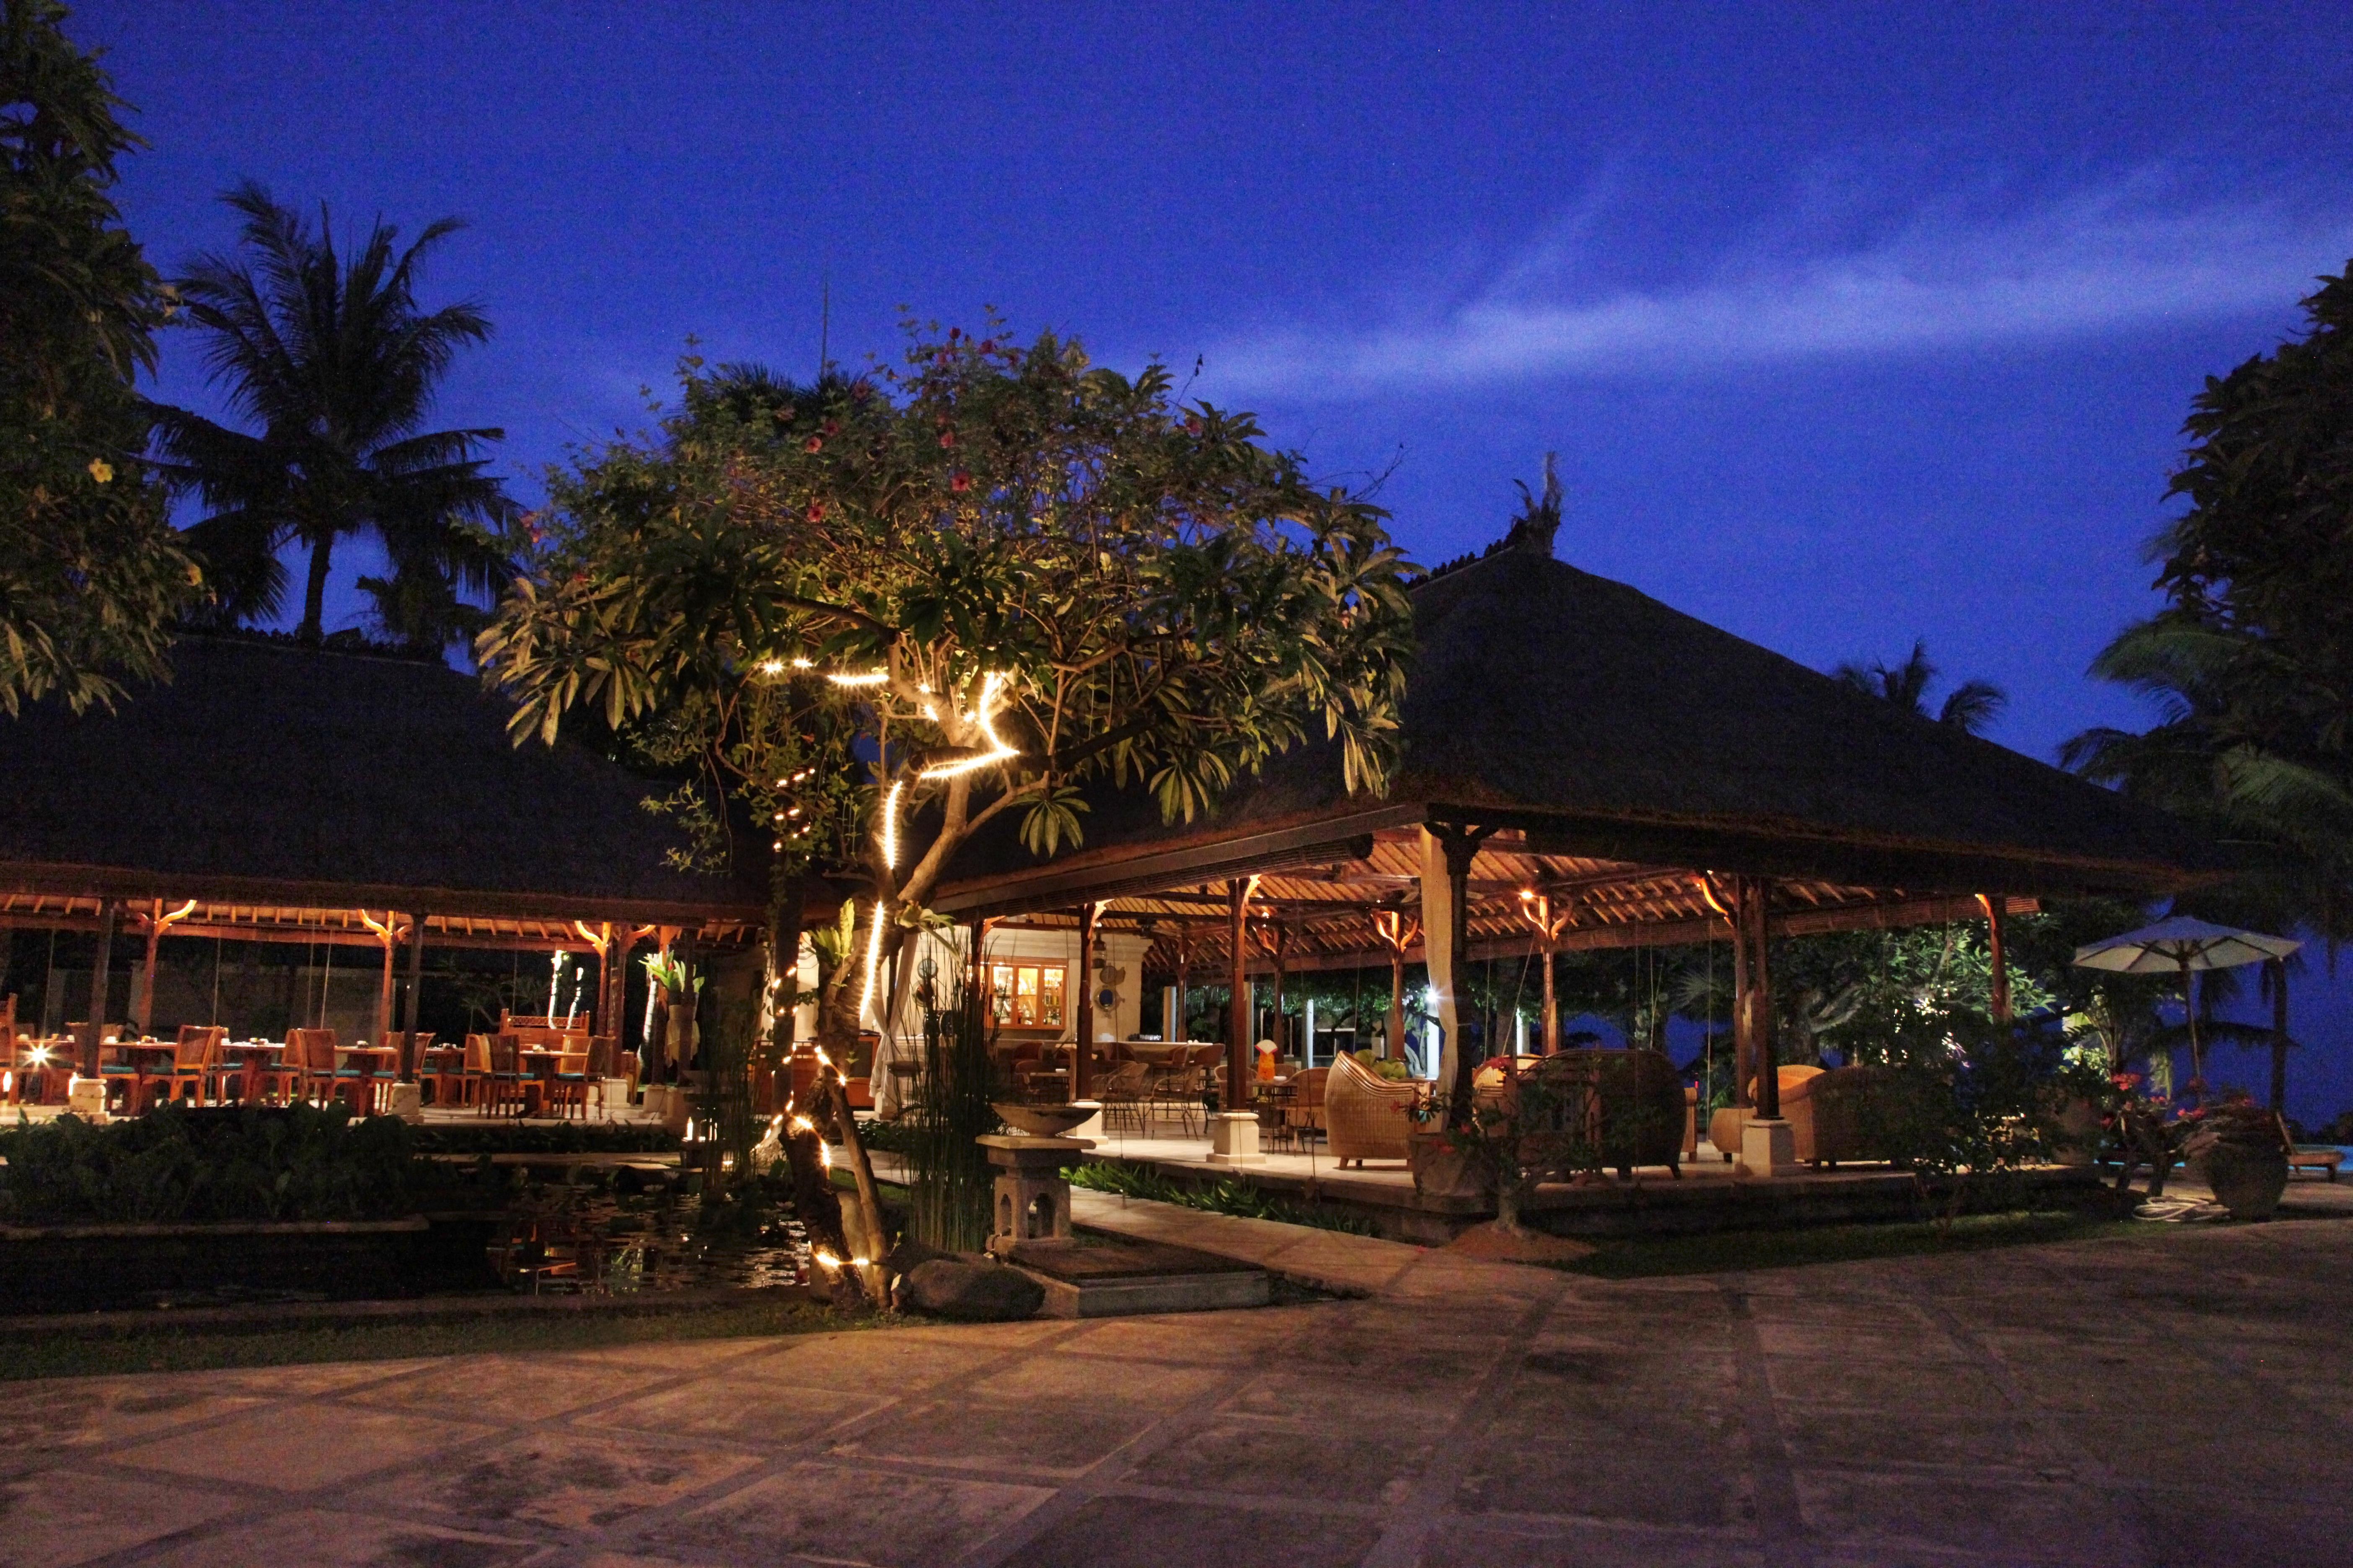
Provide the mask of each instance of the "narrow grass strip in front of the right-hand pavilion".
[{"label": "narrow grass strip in front of the right-hand pavilion", "polygon": [[[1873,1258],[1951,1255],[2038,1241],[2092,1241],[2134,1229],[2132,1220],[2073,1208],[2024,1213],[1972,1213],[1939,1229],[1927,1220],[1878,1225],[1809,1225],[1805,1229],[1722,1229],[1701,1237],[1600,1239],[1593,1253],[1551,1267],[1598,1279],[1652,1279],[1659,1274],[1729,1274],[1741,1269],[1798,1269],[1819,1262],[1866,1262]],[[2146,1227],[2139,1227],[2146,1229]]]}]

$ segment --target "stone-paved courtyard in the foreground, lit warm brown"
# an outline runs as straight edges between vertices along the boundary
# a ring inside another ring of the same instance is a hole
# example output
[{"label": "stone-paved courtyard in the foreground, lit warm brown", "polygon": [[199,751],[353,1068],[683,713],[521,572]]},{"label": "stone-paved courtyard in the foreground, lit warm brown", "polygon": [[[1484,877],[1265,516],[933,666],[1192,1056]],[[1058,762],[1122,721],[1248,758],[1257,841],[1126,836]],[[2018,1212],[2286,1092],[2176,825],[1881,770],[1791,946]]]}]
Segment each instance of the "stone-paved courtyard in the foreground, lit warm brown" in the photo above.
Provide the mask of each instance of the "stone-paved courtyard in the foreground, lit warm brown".
[{"label": "stone-paved courtyard in the foreground, lit warm brown", "polygon": [[0,1563],[2353,1559],[2348,1220],[1638,1284],[1228,1225],[1372,1293],[0,1385]]}]

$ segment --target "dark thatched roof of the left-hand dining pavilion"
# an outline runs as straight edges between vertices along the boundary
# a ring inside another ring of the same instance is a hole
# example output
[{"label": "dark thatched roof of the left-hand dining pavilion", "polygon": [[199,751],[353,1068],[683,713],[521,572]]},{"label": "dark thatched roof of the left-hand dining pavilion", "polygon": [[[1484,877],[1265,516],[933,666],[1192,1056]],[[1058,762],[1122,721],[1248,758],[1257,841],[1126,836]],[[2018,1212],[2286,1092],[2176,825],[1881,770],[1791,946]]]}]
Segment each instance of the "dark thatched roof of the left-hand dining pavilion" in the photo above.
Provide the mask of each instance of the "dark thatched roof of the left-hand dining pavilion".
[{"label": "dark thatched roof of the left-hand dining pavilion", "polygon": [[186,637],[115,715],[0,722],[0,884],[431,914],[758,919],[755,875],[673,870],[642,778],[506,738],[438,663]]}]

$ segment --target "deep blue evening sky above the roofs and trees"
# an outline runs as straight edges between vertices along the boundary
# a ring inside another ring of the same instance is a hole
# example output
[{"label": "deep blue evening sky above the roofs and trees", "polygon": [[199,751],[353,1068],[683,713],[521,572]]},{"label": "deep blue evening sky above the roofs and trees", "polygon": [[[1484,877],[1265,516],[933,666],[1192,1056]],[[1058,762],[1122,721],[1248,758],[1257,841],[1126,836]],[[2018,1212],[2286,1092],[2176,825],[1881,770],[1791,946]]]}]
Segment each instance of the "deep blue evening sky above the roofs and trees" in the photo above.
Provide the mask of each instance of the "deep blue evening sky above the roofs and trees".
[{"label": "deep blue evening sky above the roofs and trees", "polygon": [[[2134,703],[2179,423],[2353,256],[2353,7],[134,5],[167,266],[254,176],[473,228],[449,423],[525,494],[713,357],[899,306],[1191,367],[1424,562],[1562,557],[1814,665],[1927,637],[2035,755]],[[202,400],[188,346],[162,390]],[[346,569],[346,578],[351,571]],[[2353,1081],[2344,1100],[2353,1100]],[[2318,1110],[2318,1107],[2308,1107]],[[2327,1105],[2337,1110],[2337,1105]]]}]

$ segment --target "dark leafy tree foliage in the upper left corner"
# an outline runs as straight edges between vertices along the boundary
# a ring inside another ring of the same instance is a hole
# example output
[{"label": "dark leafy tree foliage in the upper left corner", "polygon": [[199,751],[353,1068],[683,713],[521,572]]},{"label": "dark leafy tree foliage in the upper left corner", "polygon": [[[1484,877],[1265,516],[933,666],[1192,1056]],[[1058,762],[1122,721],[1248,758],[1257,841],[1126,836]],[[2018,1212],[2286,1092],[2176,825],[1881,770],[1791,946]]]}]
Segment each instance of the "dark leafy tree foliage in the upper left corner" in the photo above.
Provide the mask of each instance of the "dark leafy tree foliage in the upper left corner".
[{"label": "dark leafy tree foliage in the upper left corner", "polygon": [[162,679],[202,574],[141,461],[172,296],[122,230],[127,108],[52,0],[0,7],[0,710]]}]

